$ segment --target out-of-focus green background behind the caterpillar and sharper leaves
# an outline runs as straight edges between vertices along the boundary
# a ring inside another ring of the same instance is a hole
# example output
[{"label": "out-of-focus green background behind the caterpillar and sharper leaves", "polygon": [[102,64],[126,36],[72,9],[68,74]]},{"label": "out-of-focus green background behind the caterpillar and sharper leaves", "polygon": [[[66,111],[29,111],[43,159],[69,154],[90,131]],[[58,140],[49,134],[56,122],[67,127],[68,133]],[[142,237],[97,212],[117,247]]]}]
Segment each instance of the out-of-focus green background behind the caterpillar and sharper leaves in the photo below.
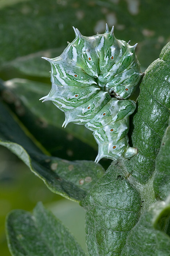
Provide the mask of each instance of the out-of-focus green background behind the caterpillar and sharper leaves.
[{"label": "out-of-focus green background behind the caterpillar and sharper leaves", "polygon": [[[110,29],[115,26],[116,38],[131,40],[131,45],[138,42],[136,53],[145,71],[170,41],[169,14],[169,0],[0,0],[0,78],[9,89],[1,100],[52,155],[94,161],[97,145],[91,132],[72,124],[62,129],[64,114],[51,102],[38,101],[51,88],[50,64],[40,57],[59,56],[75,37],[72,26],[90,36],[104,33],[107,23]],[[107,168],[110,162],[105,159],[101,164]],[[38,201],[85,248],[79,204],[52,193],[14,154],[0,147],[1,255],[10,255],[4,233],[7,213],[16,208],[31,211]]]}]

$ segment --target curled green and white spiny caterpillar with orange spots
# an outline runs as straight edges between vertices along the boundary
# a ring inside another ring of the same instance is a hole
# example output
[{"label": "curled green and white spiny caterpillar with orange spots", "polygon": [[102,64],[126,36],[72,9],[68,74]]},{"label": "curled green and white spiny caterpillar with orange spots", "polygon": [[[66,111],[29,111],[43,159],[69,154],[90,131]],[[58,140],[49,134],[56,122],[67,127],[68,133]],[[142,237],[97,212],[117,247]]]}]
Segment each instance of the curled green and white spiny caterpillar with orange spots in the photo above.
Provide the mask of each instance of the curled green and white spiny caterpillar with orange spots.
[{"label": "curled green and white spiny caterpillar with orange spots", "polygon": [[65,113],[63,126],[84,124],[93,131],[101,158],[129,159],[137,154],[127,133],[134,101],[127,100],[141,82],[136,45],[130,46],[109,32],[85,37],[75,29],[76,38],[51,63],[50,93],[41,98],[52,101]]}]

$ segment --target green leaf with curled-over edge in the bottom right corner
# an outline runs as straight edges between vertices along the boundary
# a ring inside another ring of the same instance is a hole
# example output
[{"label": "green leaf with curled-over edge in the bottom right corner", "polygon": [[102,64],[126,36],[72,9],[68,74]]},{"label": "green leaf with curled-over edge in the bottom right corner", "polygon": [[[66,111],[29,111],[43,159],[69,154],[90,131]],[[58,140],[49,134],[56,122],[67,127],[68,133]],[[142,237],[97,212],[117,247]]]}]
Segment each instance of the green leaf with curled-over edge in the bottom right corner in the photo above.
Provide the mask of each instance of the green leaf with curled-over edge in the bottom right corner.
[{"label": "green leaf with curled-over edge in the bottom right corner", "polygon": [[151,205],[130,231],[121,256],[136,255],[170,255],[170,197]]}]

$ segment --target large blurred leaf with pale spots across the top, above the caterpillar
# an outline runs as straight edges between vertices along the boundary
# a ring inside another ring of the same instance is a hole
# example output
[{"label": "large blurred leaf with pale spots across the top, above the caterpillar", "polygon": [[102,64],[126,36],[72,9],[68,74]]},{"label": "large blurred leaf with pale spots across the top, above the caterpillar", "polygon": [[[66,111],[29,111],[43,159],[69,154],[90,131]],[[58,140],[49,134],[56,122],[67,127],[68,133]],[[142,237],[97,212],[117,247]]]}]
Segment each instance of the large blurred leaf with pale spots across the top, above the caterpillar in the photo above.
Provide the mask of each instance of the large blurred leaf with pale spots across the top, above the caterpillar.
[{"label": "large blurred leaf with pale spots across the top, above the caterpillar", "polygon": [[71,26],[88,36],[103,33],[107,22],[110,27],[115,26],[117,38],[131,39],[132,44],[139,42],[139,61],[146,68],[170,36],[168,0],[5,2],[0,5],[1,64],[41,50],[65,48],[67,41],[74,39]]}]

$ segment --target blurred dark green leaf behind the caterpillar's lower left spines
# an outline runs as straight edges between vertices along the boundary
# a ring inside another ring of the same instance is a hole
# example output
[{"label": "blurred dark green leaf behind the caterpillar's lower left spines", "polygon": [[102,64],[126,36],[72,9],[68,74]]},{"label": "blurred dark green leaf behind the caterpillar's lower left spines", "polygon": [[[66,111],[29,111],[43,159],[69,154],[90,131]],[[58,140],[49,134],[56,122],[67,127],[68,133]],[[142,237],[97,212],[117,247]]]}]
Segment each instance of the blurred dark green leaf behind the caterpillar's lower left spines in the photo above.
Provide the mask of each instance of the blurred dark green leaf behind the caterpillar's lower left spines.
[{"label": "blurred dark green leaf behind the caterpillar's lower left spines", "polygon": [[[97,144],[92,132],[84,125],[75,124],[64,129],[64,113],[51,102],[42,104],[39,101],[43,95],[48,94],[51,86],[26,79],[12,79],[4,84],[4,101],[51,154],[64,157],[70,152],[70,159],[75,159],[75,154],[78,159],[84,159],[84,155],[87,155],[86,159],[95,159]],[[88,154],[89,151],[91,154]]]}]

